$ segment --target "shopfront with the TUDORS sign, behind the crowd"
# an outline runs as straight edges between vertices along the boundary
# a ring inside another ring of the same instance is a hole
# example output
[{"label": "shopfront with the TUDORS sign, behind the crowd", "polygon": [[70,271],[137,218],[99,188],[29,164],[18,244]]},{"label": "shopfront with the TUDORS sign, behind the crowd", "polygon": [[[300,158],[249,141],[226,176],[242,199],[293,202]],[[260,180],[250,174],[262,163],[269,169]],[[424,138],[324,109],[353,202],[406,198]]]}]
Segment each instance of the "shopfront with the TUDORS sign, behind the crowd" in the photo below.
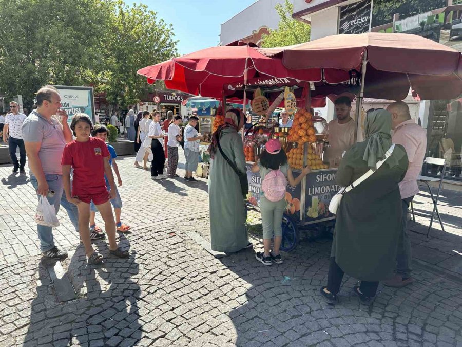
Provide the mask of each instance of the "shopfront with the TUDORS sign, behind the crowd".
[{"label": "shopfront with the TUDORS sign, behind the crowd", "polygon": [[184,116],[187,114],[187,110],[181,103],[190,97],[192,95],[187,93],[156,90],[156,92],[148,93],[141,99],[138,109],[149,112],[157,109],[161,112],[162,118],[167,116],[168,111],[172,111],[174,115]]}]

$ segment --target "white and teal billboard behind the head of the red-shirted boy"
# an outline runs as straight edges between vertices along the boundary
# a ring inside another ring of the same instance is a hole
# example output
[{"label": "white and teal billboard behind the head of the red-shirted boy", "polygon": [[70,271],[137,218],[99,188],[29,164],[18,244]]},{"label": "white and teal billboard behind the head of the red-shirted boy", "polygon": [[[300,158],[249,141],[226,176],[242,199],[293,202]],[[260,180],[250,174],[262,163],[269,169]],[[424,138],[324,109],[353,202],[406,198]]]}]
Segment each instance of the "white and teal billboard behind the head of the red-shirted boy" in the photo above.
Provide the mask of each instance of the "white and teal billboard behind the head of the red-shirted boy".
[{"label": "white and teal billboard behind the head of the red-shirted boy", "polygon": [[66,85],[55,86],[61,96],[61,105],[64,111],[70,116],[67,121],[72,121],[76,113],[87,114],[94,123],[94,100],[93,87],[74,87]]}]

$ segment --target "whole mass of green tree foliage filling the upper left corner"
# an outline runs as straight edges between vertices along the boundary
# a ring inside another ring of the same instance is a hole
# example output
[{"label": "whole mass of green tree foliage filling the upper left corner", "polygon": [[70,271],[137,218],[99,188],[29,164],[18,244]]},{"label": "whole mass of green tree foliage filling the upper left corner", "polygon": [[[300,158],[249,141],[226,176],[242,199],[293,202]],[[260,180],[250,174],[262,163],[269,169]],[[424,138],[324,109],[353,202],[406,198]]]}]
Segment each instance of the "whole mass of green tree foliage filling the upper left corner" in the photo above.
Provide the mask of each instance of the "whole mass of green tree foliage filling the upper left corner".
[{"label": "whole mass of green tree foliage filling the upper left corner", "polygon": [[122,0],[0,0],[0,95],[31,106],[45,84],[92,85],[114,106],[139,101],[144,66],[177,55],[171,24]]}]

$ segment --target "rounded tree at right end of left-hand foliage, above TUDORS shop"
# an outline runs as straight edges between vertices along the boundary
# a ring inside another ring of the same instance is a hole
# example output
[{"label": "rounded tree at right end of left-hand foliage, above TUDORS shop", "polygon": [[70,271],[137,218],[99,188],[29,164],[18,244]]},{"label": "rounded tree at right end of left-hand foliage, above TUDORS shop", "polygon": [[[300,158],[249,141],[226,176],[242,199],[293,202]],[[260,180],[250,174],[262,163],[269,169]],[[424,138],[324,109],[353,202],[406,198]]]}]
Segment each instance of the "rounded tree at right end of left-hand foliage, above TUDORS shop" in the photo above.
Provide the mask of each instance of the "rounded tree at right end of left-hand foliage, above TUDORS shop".
[{"label": "rounded tree at right end of left-hand foliage, above TUDORS shop", "polygon": [[177,56],[178,41],[172,25],[146,5],[129,7],[119,0],[113,6],[103,42],[106,68],[94,76],[94,84],[109,102],[126,107],[139,102],[146,88],[137,70]]}]

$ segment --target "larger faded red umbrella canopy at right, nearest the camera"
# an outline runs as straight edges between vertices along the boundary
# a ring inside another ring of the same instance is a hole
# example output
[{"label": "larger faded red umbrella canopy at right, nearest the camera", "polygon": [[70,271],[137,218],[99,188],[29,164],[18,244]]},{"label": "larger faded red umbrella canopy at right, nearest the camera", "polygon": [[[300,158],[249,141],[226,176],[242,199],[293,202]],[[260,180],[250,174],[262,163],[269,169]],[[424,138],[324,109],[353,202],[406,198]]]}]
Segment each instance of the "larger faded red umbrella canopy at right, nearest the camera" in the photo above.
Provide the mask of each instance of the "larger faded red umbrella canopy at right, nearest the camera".
[{"label": "larger faded red umbrella canopy at right, nearest the camera", "polygon": [[365,97],[402,100],[410,87],[422,100],[456,98],[462,93],[460,52],[417,35],[333,35],[299,45],[258,50],[282,59],[290,69],[322,67],[326,71],[360,71],[367,51]]}]

